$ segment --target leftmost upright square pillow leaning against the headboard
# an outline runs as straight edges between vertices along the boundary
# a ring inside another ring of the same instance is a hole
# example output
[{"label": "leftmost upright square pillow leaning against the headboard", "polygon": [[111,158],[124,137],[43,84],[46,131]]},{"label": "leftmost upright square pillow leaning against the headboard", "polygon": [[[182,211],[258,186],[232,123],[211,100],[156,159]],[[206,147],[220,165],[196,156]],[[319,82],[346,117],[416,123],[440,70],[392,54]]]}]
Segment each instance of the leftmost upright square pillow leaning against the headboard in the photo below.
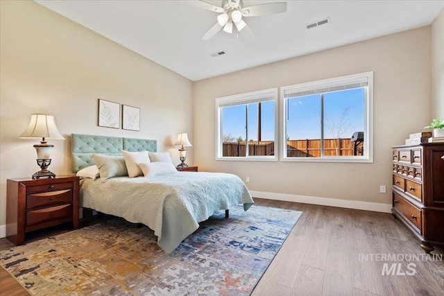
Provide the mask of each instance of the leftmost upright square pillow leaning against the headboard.
[{"label": "leftmost upright square pillow leaning against the headboard", "polygon": [[112,177],[123,177],[128,175],[125,159],[123,156],[114,155],[91,155],[92,161],[99,168],[100,178],[102,182]]}]

